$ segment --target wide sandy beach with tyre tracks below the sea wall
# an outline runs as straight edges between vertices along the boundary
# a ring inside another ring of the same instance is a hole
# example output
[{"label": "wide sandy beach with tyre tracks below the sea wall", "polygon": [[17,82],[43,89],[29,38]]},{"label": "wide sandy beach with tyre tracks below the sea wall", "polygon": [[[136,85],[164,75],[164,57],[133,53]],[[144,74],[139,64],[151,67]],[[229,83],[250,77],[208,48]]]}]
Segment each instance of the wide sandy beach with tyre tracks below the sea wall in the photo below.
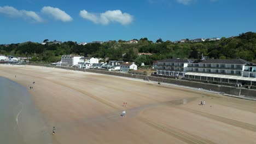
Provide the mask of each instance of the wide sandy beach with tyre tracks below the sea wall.
[{"label": "wide sandy beach with tyre tracks below the sea wall", "polygon": [[256,101],[28,65],[0,76],[27,87],[53,143],[256,143]]}]

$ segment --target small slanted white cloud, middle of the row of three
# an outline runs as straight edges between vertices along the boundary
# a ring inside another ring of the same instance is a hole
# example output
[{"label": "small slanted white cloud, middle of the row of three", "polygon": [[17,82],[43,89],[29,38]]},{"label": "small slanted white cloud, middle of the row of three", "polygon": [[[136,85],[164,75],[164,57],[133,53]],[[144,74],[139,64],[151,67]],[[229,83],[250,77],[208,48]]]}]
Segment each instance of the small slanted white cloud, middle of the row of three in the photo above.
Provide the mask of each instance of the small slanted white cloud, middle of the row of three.
[{"label": "small slanted white cloud, middle of the row of three", "polygon": [[72,17],[69,16],[65,11],[60,10],[59,8],[53,8],[53,7],[43,7],[41,10],[42,13],[51,15],[56,20],[60,20],[63,22],[72,21]]}]

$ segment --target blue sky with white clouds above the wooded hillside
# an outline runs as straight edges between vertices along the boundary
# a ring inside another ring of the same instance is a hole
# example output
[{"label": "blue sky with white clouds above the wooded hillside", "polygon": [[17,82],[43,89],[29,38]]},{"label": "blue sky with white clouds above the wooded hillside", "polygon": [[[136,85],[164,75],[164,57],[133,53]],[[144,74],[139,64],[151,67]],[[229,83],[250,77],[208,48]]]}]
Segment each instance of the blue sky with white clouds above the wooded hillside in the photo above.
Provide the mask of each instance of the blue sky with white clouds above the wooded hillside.
[{"label": "blue sky with white clouds above the wooded hillside", "polygon": [[1,0],[0,44],[180,40],[256,32],[254,0]]}]

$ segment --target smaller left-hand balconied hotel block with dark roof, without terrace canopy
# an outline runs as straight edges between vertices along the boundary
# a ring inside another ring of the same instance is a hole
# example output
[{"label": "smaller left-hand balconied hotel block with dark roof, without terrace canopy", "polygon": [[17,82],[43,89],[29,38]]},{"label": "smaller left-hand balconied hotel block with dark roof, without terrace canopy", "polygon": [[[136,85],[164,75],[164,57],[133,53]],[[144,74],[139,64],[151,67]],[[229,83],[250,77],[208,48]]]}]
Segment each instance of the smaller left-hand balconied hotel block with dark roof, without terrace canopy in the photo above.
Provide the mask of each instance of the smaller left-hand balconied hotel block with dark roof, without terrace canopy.
[{"label": "smaller left-hand balconied hotel block with dark roof, without terrace canopy", "polygon": [[167,76],[184,76],[187,66],[193,61],[189,59],[164,59],[157,62],[156,74]]}]

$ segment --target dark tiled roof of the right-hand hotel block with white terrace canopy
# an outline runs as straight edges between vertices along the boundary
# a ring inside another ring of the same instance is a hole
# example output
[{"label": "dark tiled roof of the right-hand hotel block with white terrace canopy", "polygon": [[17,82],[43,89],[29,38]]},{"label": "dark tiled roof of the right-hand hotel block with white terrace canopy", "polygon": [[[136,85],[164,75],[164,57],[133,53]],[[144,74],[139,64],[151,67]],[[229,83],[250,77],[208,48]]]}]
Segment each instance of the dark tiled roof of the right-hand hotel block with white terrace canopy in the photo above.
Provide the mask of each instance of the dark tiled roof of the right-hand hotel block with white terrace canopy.
[{"label": "dark tiled roof of the right-hand hotel block with white terrace canopy", "polygon": [[222,63],[222,64],[247,64],[251,63],[245,59],[207,59],[199,63]]}]

